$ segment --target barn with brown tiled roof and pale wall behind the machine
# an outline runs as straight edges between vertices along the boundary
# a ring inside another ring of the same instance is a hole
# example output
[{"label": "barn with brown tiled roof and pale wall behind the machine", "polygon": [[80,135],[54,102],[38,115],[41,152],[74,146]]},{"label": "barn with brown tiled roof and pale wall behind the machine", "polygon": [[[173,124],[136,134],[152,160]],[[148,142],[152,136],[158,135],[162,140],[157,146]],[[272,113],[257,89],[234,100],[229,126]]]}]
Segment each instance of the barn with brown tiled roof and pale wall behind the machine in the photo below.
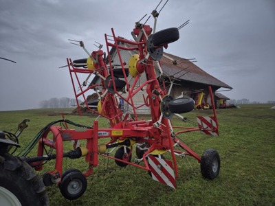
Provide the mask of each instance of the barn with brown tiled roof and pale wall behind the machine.
[{"label": "barn with brown tiled roof and pale wall behind the machine", "polygon": [[[122,45],[123,47],[127,47],[125,43]],[[129,50],[120,50],[120,56],[122,58],[122,62],[125,62],[125,65],[128,65],[129,59],[133,56],[135,52]],[[111,64],[113,65],[113,69],[116,67],[120,67],[120,60],[118,57],[118,52],[115,47],[112,47],[110,50],[111,56]],[[109,63],[109,62],[108,62]],[[212,106],[210,102],[210,94],[208,87],[212,87],[212,92],[214,93],[220,88],[223,89],[232,89],[228,84],[221,82],[217,78],[214,78],[206,71],[203,71],[201,68],[197,67],[192,61],[181,58],[179,56],[174,56],[172,54],[164,53],[161,60],[159,60],[159,64],[162,67],[162,71],[165,74],[164,82],[166,82],[166,88],[170,87],[170,80],[173,81],[173,89],[170,92],[170,96],[172,98],[177,98],[179,95],[186,95],[193,100],[195,100],[195,108],[210,108]],[[157,76],[159,76],[159,71],[156,69]],[[128,77],[129,83],[133,83],[133,78],[129,75]],[[142,82],[146,80],[146,76],[144,73],[140,76],[141,85]],[[99,77],[95,77],[91,85],[97,84],[99,81]],[[99,88],[100,89],[100,88]],[[127,95],[126,93],[124,95]],[[135,95],[135,106],[144,104],[143,96],[146,96],[146,92],[140,92]],[[122,102],[124,104],[125,102]],[[217,99],[215,104],[217,103]],[[217,107],[217,105],[215,105]],[[127,108],[127,105],[124,104],[124,108]],[[148,113],[149,110],[146,106],[142,106],[137,110],[138,113]]]}]

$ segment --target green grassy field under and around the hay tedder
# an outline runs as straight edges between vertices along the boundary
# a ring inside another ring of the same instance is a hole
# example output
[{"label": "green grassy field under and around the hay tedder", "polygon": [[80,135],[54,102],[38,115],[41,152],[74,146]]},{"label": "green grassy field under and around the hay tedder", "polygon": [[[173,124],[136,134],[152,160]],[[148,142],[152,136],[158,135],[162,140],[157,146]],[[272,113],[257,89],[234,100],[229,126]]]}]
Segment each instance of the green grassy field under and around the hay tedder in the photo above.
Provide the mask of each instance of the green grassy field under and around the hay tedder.
[{"label": "green grassy field under and around the hay tedder", "polygon": [[[127,166],[118,168],[111,160],[100,157],[100,166],[87,178],[85,194],[76,201],[68,201],[58,185],[47,187],[51,205],[275,205],[275,109],[268,104],[250,104],[240,109],[218,110],[219,137],[188,133],[181,139],[201,155],[206,148],[214,148],[221,156],[221,172],[217,179],[201,177],[199,163],[189,157],[177,159],[179,178],[177,189],[153,181],[145,170]],[[52,115],[48,115],[51,113]],[[186,117],[210,111],[193,111]],[[17,124],[29,118],[29,127],[20,137],[24,146],[46,124],[61,119],[52,110],[0,112],[0,129],[14,133]],[[66,115],[78,124],[91,125],[94,117]],[[100,119],[102,120],[102,119]],[[174,124],[184,124],[177,118]],[[100,127],[107,122],[100,121]],[[68,150],[70,146],[66,146]],[[35,152],[33,153],[35,154]],[[169,158],[168,156],[166,157]],[[45,165],[52,170],[54,161]],[[83,159],[64,161],[64,168],[87,170]]]}]

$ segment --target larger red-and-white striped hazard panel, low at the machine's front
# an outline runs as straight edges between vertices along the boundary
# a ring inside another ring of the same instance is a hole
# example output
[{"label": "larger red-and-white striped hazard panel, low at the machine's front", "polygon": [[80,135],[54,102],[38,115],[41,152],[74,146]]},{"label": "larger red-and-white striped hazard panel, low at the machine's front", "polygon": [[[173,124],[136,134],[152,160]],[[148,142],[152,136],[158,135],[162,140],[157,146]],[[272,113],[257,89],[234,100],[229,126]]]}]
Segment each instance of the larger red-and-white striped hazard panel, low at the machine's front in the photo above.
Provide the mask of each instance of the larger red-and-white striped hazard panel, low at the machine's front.
[{"label": "larger red-and-white striped hazard panel, low at the machine's front", "polygon": [[153,180],[175,189],[175,173],[173,170],[172,161],[149,155],[148,162]]}]

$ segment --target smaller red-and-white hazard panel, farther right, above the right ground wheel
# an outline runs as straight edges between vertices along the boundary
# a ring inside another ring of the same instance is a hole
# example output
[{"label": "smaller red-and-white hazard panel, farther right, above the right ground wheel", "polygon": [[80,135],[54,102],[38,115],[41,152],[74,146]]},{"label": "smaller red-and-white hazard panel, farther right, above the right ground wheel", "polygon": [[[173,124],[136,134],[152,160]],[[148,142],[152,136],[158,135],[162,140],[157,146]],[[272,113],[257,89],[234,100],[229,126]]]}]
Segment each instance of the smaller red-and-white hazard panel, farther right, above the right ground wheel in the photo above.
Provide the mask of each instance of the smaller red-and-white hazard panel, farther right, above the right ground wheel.
[{"label": "smaller red-and-white hazard panel, farther right, above the right ground wheel", "polygon": [[217,119],[215,117],[197,117],[197,123],[201,133],[206,135],[219,136]]}]

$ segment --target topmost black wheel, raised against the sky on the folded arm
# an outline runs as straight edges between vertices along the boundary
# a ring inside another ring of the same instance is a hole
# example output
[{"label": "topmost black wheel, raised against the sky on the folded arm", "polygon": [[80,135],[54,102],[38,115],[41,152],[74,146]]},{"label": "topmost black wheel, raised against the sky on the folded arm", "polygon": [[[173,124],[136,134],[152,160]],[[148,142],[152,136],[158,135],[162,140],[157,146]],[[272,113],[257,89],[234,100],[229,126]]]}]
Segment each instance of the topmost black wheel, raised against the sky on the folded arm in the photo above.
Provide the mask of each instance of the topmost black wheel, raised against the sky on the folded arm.
[{"label": "topmost black wheel, raised against the sky on the folded arm", "polygon": [[173,43],[179,39],[179,30],[176,27],[168,28],[166,30],[160,30],[153,34],[153,45],[163,46],[168,43]]}]

